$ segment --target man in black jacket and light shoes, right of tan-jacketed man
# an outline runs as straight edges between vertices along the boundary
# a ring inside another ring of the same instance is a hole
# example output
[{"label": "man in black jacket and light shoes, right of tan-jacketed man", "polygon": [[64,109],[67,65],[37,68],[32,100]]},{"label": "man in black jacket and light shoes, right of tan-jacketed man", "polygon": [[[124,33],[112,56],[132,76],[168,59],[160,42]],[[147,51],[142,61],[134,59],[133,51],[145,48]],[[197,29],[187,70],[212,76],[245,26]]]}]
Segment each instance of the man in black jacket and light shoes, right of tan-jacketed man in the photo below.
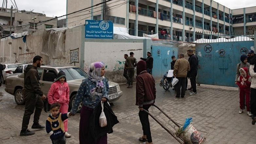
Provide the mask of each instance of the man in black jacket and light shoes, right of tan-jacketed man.
[{"label": "man in black jacket and light shoes, right of tan-jacketed man", "polygon": [[190,65],[189,79],[190,79],[190,83],[191,83],[191,87],[192,87],[192,92],[190,92],[189,95],[197,95],[195,80],[196,80],[196,76],[197,76],[198,60],[197,60],[197,57],[194,55],[192,49],[187,50],[187,54],[190,57],[190,59],[189,59],[189,65]]}]

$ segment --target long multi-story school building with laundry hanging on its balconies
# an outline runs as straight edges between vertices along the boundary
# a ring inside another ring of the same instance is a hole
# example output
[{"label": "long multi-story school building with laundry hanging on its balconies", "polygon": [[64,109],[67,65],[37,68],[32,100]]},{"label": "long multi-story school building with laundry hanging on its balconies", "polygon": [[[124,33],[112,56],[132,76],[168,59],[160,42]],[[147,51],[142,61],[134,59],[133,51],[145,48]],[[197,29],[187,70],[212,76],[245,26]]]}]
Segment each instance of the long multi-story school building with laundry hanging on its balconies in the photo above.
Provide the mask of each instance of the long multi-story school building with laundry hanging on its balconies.
[{"label": "long multi-story school building with laundry hanging on its balconies", "polygon": [[[67,13],[102,2],[67,1]],[[199,38],[229,38],[234,34],[233,28],[237,31],[243,26],[238,23],[232,26],[232,17],[240,17],[246,12],[245,17],[250,21],[251,15],[256,14],[255,8],[244,9],[250,10],[231,10],[212,0],[113,0],[68,15],[67,22],[68,26],[75,26],[84,24],[85,19],[111,20],[114,26],[129,28],[130,35],[158,33],[161,39],[194,41]]]}]

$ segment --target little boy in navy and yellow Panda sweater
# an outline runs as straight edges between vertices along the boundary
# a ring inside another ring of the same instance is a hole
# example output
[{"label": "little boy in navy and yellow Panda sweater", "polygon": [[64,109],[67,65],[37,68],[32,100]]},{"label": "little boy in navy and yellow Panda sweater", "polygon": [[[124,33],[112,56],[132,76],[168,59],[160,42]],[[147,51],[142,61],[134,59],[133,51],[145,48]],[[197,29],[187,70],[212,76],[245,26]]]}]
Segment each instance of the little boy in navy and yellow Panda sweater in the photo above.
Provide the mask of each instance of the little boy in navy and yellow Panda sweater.
[{"label": "little boy in navy and yellow Panda sweater", "polygon": [[71,113],[60,113],[60,104],[51,105],[51,114],[46,119],[46,132],[50,135],[52,144],[65,144],[65,130],[63,121],[71,116]]}]

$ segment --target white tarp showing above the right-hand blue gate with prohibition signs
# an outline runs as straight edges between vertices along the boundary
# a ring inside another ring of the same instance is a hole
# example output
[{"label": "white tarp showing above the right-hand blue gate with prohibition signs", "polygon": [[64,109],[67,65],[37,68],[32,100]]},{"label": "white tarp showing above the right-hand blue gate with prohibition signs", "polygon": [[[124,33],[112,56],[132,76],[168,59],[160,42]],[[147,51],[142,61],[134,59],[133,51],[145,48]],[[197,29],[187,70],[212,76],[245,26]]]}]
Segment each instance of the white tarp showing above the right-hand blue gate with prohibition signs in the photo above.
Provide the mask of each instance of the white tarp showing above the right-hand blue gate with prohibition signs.
[{"label": "white tarp showing above the right-hand blue gate with prohibition signs", "polygon": [[241,42],[241,41],[253,41],[246,36],[238,36],[232,39],[218,38],[218,39],[199,39],[193,43],[218,43],[218,42]]}]

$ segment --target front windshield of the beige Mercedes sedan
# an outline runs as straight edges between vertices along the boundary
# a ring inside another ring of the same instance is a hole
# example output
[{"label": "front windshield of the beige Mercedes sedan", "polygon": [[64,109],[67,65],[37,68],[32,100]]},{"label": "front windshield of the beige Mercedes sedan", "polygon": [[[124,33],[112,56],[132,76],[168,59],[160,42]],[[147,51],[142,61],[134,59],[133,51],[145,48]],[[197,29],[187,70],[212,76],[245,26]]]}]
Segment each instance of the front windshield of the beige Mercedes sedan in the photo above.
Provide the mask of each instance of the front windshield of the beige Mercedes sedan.
[{"label": "front windshield of the beige Mercedes sedan", "polygon": [[79,67],[70,67],[70,68],[59,68],[59,71],[63,70],[66,74],[66,79],[68,80],[76,80],[76,79],[84,79],[87,78],[87,73],[85,73]]}]

